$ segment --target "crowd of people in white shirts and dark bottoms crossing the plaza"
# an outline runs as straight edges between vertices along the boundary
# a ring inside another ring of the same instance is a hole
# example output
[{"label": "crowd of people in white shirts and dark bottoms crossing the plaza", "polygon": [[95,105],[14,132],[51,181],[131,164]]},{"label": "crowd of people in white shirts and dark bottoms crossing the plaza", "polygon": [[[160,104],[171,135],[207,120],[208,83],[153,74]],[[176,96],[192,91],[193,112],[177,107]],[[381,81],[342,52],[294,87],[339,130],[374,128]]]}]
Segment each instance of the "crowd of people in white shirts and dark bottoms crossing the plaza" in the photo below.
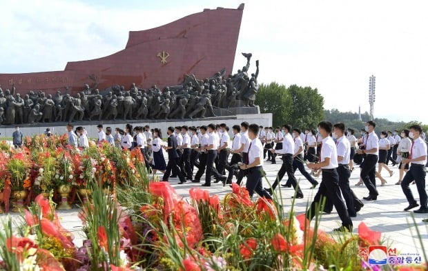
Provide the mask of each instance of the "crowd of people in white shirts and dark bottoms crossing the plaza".
[{"label": "crowd of people in white shirts and dark bottoms crossing the plaza", "polygon": [[[333,125],[328,121],[320,122],[316,131],[305,129],[304,132],[289,125],[273,129],[242,122],[229,129],[225,123],[211,123],[198,127],[169,127],[165,142],[161,130],[157,128],[133,128],[128,124],[124,131],[117,128],[115,135],[111,128],[107,128],[106,134],[99,126],[98,141],[107,141],[118,148],[141,149],[148,170],[153,170],[153,174],[157,171],[163,173],[159,175],[160,181],[177,177],[179,184],[189,181],[209,187],[213,183],[231,185],[234,177],[236,183],[241,185],[245,177],[251,197],[256,192],[260,197],[272,199],[275,188],[286,174],[288,179],[282,186],[293,186],[293,197],[302,199],[304,195],[294,175],[295,170],[300,170],[311,182],[311,188],[318,186],[313,203],[307,210],[307,218],[313,219],[318,211],[330,213],[334,207],[342,220],[342,226],[335,230],[351,231],[351,217],[356,217],[364,206],[349,185],[351,171],[356,170],[354,161],[360,164],[360,180],[369,192],[364,201],[376,201],[381,197],[376,188],[376,177],[382,178],[381,169],[387,167],[389,158],[403,173],[396,185],[401,185],[409,203],[405,211],[419,207],[414,210],[415,213],[428,213],[425,190],[427,142],[422,128],[413,125],[400,131],[400,135],[391,133],[397,136],[394,143],[390,143],[388,133],[384,131],[378,139],[375,129],[376,123],[368,121],[364,133],[356,139],[353,129],[345,128],[343,123]],[[72,131],[72,127],[69,130]],[[77,130],[82,137],[84,131],[81,128]],[[70,144],[80,145],[74,140]],[[167,161],[163,150],[168,154]],[[396,155],[396,159],[391,157],[392,154]],[[279,157],[282,164],[276,179],[269,180],[269,187],[263,188],[263,164],[267,161],[275,164]],[[376,164],[379,165],[378,171]],[[314,177],[320,174],[321,182],[318,183]],[[416,184],[419,203],[411,192],[412,182]]]}]

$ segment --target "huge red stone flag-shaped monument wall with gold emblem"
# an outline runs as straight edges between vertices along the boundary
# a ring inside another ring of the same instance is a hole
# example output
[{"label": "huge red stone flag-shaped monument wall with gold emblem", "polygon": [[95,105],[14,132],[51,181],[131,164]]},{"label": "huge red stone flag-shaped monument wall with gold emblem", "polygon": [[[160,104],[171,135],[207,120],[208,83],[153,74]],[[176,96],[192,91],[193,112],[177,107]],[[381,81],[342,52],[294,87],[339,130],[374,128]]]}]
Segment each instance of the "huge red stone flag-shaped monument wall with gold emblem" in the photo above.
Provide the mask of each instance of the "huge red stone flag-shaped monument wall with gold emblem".
[{"label": "huge red stone flag-shaped monument wall with gold emblem", "polygon": [[51,94],[68,86],[74,94],[85,83],[95,83],[90,76],[104,90],[114,84],[129,88],[131,83],[162,89],[182,83],[185,74],[204,79],[223,68],[230,74],[243,10],[243,3],[237,9],[205,9],[164,26],[131,31],[126,48],[108,57],[68,62],[64,71],[0,74],[0,84],[3,90],[14,84],[22,94]]}]

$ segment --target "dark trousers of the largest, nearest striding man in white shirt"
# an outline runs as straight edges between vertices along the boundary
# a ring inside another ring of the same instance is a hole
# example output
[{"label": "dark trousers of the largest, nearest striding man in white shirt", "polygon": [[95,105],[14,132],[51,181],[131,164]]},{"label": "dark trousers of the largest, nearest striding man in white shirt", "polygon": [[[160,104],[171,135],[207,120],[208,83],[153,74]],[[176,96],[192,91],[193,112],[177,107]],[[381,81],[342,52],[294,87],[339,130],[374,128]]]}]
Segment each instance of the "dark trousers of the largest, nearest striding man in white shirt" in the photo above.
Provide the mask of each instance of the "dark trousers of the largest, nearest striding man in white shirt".
[{"label": "dark trousers of the largest, nearest striding man in white shirt", "polygon": [[342,220],[342,225],[345,227],[352,226],[347,207],[344,205],[342,195],[340,194],[339,175],[335,168],[332,170],[322,170],[320,188],[318,188],[318,192],[313,198],[311,207],[307,210],[307,219],[312,220],[315,217],[315,212],[322,210],[320,205],[324,197],[333,203],[334,208],[338,211],[340,220]]}]

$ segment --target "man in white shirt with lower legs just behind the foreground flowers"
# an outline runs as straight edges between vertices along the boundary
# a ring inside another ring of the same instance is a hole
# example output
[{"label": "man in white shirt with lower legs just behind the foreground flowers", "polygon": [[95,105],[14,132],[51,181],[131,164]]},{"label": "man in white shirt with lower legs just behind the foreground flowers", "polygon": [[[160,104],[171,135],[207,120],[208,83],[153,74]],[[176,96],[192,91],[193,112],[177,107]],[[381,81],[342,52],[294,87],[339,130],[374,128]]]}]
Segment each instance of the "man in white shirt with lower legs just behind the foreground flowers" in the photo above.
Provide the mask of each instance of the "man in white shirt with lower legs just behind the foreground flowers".
[{"label": "man in white shirt with lower legs just behind the foreground flowers", "polygon": [[263,146],[262,142],[257,139],[258,132],[259,126],[257,124],[253,123],[249,126],[249,139],[251,140],[249,150],[247,150],[249,161],[242,164],[240,168],[248,171],[245,187],[250,197],[253,197],[254,192],[256,192],[260,197],[272,199],[271,195],[262,186]]}]

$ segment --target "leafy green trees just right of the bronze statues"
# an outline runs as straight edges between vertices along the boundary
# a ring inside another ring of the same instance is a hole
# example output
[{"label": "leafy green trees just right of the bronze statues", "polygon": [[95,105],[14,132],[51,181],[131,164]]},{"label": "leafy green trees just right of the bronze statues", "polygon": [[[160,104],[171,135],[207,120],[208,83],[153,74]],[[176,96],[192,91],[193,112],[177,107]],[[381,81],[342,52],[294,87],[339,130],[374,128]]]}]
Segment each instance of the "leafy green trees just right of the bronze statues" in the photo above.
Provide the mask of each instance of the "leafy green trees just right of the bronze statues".
[{"label": "leafy green trees just right of the bronze statues", "polygon": [[315,127],[324,118],[324,98],[316,88],[261,84],[255,103],[262,113],[273,114],[273,126]]}]

